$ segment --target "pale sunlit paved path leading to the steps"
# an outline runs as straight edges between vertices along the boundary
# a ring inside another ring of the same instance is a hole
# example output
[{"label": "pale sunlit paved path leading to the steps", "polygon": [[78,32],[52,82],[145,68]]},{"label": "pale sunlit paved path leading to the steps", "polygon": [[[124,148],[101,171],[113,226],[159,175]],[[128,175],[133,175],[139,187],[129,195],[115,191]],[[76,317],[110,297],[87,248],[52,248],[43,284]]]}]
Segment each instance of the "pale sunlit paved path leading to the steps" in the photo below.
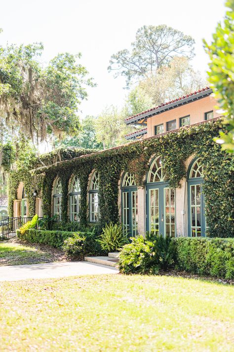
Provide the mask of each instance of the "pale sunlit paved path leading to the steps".
[{"label": "pale sunlit paved path leading to the steps", "polygon": [[0,266],[0,281],[45,279],[76,275],[117,274],[115,267],[87,262],[56,262]]}]

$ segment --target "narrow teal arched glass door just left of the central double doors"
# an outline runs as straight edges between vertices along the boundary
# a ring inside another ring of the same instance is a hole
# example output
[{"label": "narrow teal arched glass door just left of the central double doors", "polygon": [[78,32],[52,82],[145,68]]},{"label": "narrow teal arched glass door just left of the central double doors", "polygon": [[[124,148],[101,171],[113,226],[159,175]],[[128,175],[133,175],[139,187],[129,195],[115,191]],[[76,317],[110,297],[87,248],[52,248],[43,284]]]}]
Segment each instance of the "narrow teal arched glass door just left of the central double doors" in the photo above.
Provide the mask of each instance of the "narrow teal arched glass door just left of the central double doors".
[{"label": "narrow teal arched glass door just left of the central double doors", "polygon": [[138,230],[138,197],[137,186],[133,174],[126,173],[121,182],[122,191],[122,223],[126,235],[136,236]]}]

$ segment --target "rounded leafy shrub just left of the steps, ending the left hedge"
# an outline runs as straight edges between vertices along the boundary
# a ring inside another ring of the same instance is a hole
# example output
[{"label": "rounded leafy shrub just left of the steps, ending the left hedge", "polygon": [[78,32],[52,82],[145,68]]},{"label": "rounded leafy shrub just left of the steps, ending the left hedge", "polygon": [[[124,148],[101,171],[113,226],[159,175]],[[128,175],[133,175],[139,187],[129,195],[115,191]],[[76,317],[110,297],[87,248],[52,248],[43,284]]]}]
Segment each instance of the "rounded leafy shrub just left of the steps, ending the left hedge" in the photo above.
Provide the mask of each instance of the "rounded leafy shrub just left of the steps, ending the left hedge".
[{"label": "rounded leafy shrub just left of the steps, ending the left hedge", "polygon": [[74,233],[64,241],[63,249],[68,257],[76,260],[83,260],[84,256],[107,254],[96,241],[94,231]]}]

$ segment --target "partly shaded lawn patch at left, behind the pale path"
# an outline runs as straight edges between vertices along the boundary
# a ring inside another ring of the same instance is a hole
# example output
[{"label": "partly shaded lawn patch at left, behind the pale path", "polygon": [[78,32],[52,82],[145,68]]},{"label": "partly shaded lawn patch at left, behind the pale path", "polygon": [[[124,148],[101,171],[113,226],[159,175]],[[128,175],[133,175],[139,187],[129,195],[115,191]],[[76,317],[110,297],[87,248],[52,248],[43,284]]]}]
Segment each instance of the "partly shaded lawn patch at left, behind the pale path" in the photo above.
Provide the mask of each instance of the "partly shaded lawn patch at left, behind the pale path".
[{"label": "partly shaded lawn patch at left, behind the pale path", "polygon": [[[48,263],[56,260],[54,251],[38,245],[24,245],[17,239],[0,242],[0,265]],[[58,251],[57,251],[58,252]]]}]

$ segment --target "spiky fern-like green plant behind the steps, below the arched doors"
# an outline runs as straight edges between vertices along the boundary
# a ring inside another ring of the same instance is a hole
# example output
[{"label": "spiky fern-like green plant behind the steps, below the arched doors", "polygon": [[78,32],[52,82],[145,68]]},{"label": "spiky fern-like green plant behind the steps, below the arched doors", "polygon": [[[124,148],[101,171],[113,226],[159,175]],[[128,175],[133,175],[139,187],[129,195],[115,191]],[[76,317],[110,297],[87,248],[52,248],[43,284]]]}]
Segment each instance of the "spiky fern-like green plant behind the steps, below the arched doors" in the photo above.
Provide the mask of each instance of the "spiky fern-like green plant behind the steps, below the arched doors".
[{"label": "spiky fern-like green plant behind the steps, below the arched doors", "polygon": [[115,252],[128,242],[127,236],[123,234],[121,224],[106,224],[102,229],[103,233],[96,241],[100,243],[103,250],[108,252]]}]

